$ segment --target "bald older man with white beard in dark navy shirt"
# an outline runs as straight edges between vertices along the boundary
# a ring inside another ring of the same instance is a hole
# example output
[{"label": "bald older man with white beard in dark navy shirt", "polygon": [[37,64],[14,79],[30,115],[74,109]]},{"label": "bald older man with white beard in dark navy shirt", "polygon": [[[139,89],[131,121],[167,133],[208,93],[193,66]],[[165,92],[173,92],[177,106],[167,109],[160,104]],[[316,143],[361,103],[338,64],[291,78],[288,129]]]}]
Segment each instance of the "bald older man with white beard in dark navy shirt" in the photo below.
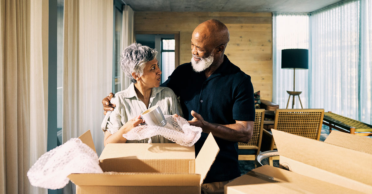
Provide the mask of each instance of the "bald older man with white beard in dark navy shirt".
[{"label": "bald older man with white beard in dark navy shirt", "polygon": [[[240,176],[237,142],[249,142],[253,132],[253,85],[250,76],[224,55],[229,39],[227,27],[218,20],[198,25],[192,33],[191,62],[177,67],[161,85],[180,97],[190,125],[203,129],[195,143],[196,155],[209,132],[219,146],[202,185],[204,193],[223,193],[224,185]],[[104,105],[108,102],[105,99]]]}]

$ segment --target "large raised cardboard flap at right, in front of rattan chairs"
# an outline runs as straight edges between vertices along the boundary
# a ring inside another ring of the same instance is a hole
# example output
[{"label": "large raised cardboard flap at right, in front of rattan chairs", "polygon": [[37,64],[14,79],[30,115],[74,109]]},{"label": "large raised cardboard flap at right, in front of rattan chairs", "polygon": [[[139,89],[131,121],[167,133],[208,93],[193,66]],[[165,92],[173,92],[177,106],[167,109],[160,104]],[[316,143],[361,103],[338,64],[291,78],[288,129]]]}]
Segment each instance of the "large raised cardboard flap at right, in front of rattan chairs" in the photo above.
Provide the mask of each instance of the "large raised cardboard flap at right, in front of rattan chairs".
[{"label": "large raised cardboard flap at right, in front of rattan chairs", "polygon": [[[339,141],[343,138],[335,140],[337,134],[333,132],[328,142],[337,145],[275,129],[272,129],[272,133],[280,153],[280,165],[290,171],[347,188],[361,187],[362,192],[372,188],[372,154],[362,152],[356,146],[358,142],[355,142],[353,149],[348,149],[337,146],[344,143]],[[348,136],[348,141],[357,137]]]}]

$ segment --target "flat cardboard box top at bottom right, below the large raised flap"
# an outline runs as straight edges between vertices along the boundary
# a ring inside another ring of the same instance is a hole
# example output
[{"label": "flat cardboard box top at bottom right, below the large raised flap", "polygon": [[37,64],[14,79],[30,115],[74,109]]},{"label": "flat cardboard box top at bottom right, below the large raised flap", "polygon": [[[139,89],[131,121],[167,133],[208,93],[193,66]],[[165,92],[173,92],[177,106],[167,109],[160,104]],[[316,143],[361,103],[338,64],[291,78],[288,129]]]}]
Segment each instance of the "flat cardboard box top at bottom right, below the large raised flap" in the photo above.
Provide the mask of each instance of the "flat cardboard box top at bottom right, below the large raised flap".
[{"label": "flat cardboard box top at bottom right, below the large raised flap", "polygon": [[359,193],[358,191],[264,165],[236,178],[225,193]]}]

